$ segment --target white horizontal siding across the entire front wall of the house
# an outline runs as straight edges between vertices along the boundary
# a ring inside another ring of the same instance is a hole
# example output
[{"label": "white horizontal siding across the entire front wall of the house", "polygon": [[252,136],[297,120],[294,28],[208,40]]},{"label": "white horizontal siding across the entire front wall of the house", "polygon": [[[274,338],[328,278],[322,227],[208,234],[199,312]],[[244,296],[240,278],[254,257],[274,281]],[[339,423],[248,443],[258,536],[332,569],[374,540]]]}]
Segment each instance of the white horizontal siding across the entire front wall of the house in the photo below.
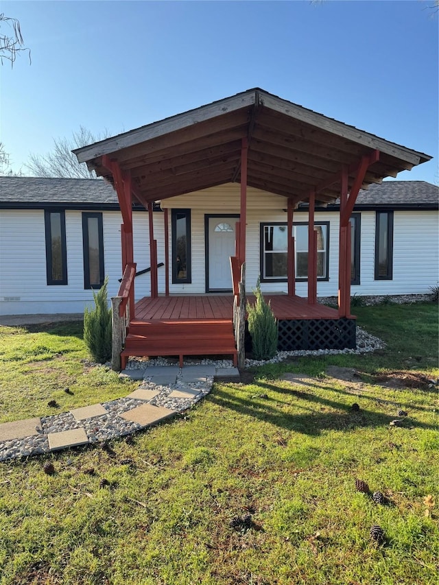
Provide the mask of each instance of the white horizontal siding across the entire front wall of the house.
[{"label": "white horizontal siding across the entire front wall of the house", "polygon": [[[227,184],[181,195],[162,202],[163,207],[191,208],[192,283],[173,285],[171,294],[199,294],[205,291],[204,219],[206,214],[239,213],[239,184]],[[286,222],[286,200],[248,189],[247,289],[259,276],[261,222]],[[154,238],[158,262],[165,261],[164,217],[154,213]],[[169,255],[171,217],[169,211]],[[43,210],[0,211],[0,314],[75,313],[93,302],[91,290],[84,290],[82,212],[66,211],[68,285],[47,286],[45,224]],[[294,222],[307,222],[307,213],[294,212]],[[316,222],[330,222],[329,280],[318,282],[318,296],[333,296],[338,289],[338,213],[316,213]],[[109,296],[115,296],[121,278],[121,214],[103,213],[104,263]],[[148,216],[134,212],[134,261],[137,270],[150,266]],[[394,211],[393,279],[375,280],[375,212],[361,213],[361,284],[352,294],[420,294],[438,283],[438,212]],[[150,273],[135,280],[136,299],[150,294]],[[264,291],[287,291],[287,283],[262,283]],[[165,267],[158,268],[158,290],[165,291]],[[307,296],[307,283],[297,283],[296,293]]]}]

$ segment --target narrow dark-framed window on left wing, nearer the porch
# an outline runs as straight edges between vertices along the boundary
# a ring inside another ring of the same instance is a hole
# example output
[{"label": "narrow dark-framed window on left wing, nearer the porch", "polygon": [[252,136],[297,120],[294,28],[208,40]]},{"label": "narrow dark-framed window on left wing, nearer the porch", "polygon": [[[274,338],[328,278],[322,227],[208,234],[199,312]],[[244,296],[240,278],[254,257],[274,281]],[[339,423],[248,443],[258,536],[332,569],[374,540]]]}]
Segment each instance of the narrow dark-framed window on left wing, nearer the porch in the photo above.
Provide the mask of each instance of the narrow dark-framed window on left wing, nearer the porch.
[{"label": "narrow dark-framed window on left wing, nearer the porch", "polygon": [[84,250],[84,289],[100,289],[104,284],[104,232],[102,213],[82,214]]}]

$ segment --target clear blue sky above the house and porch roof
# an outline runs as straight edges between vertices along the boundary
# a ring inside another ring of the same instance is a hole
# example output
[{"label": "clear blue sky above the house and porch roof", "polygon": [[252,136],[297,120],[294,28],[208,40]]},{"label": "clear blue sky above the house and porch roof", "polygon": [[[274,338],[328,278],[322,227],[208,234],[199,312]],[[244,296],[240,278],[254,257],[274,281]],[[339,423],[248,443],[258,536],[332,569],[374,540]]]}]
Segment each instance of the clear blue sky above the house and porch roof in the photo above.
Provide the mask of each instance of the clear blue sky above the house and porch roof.
[{"label": "clear blue sky above the house and porch roof", "polygon": [[[118,134],[252,87],[434,156],[433,1],[2,1],[32,64],[0,65],[12,167],[79,126]],[[23,171],[25,169],[23,168]]]}]

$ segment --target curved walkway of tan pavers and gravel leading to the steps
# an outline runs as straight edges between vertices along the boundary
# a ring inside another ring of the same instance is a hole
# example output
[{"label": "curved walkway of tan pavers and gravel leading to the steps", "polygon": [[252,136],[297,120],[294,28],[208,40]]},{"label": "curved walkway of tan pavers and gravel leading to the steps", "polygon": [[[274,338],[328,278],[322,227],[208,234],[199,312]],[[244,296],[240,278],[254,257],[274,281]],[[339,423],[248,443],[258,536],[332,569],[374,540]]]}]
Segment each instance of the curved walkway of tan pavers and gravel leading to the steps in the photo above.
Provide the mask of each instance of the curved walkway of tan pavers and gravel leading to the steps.
[{"label": "curved walkway of tan pavers and gravel leading to the steps", "polygon": [[129,435],[187,410],[211,391],[214,377],[239,378],[237,368],[149,366],[123,370],[139,381],[125,398],[42,418],[0,424],[0,461]]}]

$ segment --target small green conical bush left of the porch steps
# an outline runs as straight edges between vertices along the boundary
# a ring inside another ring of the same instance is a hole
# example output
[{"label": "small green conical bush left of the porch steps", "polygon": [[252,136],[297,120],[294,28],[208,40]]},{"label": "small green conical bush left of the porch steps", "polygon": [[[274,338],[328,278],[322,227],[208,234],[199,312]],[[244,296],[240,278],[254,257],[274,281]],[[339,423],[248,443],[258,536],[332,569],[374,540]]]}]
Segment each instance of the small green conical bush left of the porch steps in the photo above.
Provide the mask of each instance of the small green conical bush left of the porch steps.
[{"label": "small green conical bush left of the porch steps", "polygon": [[99,291],[93,291],[95,307],[84,310],[84,342],[98,363],[111,359],[111,309],[108,309],[107,285],[108,277]]}]

